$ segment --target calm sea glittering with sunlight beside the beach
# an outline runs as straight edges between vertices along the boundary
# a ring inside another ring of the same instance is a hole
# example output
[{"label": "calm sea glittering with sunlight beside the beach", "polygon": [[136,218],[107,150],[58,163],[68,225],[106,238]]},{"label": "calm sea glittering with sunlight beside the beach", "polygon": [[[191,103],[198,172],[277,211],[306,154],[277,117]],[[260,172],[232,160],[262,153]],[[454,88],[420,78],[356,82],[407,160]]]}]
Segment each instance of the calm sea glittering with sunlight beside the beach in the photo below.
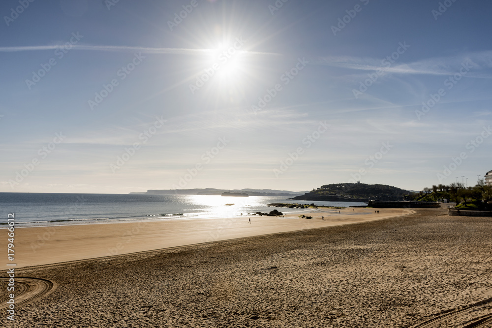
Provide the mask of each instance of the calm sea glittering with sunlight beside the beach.
[{"label": "calm sea glittering with sunlight beside the beach", "polygon": [[[294,201],[279,196],[0,193],[0,228],[6,227],[7,216],[11,213],[15,214],[16,227],[20,228],[241,217],[255,212],[270,212],[273,210],[267,206],[270,203],[315,203],[343,207],[367,204]],[[288,208],[278,210],[284,214],[299,213],[299,215],[311,211],[311,209]]]}]

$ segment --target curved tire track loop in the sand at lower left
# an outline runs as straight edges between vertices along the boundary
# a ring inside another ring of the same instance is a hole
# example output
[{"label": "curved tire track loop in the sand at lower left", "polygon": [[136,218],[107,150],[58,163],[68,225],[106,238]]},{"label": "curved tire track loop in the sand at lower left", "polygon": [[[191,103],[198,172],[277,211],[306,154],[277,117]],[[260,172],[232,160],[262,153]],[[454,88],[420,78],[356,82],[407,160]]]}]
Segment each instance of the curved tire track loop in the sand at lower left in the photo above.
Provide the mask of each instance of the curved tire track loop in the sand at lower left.
[{"label": "curved tire track loop in the sand at lower left", "polygon": [[[8,282],[8,278],[0,277],[1,282]],[[55,281],[41,278],[15,277],[15,305],[25,305],[53,293],[58,284]],[[19,292],[20,290],[20,292]],[[0,309],[8,307],[7,301],[0,302]]]}]

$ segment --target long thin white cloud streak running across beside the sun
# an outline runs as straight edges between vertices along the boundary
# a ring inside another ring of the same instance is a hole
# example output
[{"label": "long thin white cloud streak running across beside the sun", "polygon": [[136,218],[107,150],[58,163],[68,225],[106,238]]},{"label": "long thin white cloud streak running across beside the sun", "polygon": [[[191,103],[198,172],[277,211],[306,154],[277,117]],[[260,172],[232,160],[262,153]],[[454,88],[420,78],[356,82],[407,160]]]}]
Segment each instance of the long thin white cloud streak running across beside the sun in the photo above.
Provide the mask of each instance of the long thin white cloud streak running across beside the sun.
[{"label": "long thin white cloud streak running across beside the sun", "polygon": [[[19,52],[19,51],[44,51],[56,50],[64,45],[41,45],[41,46],[15,46],[0,47],[0,52]],[[170,55],[197,55],[215,53],[216,49],[186,49],[186,48],[150,48],[150,47],[130,47],[130,46],[107,46],[107,45],[89,45],[75,44],[71,49],[86,51],[105,51],[105,52],[141,52],[145,54],[170,54]],[[267,55],[279,56],[277,53],[256,52],[256,51],[238,51],[243,55]]]}]

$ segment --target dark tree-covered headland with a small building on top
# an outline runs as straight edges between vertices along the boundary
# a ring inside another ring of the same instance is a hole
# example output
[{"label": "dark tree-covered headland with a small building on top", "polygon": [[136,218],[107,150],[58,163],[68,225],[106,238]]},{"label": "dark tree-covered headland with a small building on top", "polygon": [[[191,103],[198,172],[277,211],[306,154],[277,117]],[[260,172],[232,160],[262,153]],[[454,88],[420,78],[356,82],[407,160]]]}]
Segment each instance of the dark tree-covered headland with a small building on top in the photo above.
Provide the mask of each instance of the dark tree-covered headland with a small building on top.
[{"label": "dark tree-covered headland with a small building on top", "polygon": [[291,199],[329,202],[368,202],[369,199],[402,201],[408,190],[385,184],[335,183],[326,184],[310,192]]}]

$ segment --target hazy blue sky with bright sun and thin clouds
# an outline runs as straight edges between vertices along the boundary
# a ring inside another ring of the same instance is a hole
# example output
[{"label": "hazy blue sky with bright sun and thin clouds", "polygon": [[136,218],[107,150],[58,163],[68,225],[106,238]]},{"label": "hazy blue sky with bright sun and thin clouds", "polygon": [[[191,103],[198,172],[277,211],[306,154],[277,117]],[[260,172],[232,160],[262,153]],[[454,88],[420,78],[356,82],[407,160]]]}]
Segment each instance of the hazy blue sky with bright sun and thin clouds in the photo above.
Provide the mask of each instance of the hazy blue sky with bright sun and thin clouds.
[{"label": "hazy blue sky with bright sun and thin clouds", "polygon": [[2,1],[0,192],[472,185],[492,169],[491,9]]}]

